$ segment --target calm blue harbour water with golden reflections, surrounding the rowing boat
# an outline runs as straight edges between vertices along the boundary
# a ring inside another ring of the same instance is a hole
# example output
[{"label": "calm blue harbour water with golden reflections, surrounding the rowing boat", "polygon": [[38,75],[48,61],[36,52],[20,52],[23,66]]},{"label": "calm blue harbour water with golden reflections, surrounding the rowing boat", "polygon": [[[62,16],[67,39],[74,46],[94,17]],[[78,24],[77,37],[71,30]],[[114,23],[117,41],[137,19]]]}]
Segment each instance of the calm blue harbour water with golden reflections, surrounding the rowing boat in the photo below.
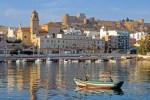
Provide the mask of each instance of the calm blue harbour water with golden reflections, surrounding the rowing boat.
[{"label": "calm blue harbour water with golden reflections, surrounding the rowing boat", "polygon": [[[112,76],[122,89],[86,90],[73,78]],[[150,61],[116,63],[1,63],[0,100],[150,100]]]}]

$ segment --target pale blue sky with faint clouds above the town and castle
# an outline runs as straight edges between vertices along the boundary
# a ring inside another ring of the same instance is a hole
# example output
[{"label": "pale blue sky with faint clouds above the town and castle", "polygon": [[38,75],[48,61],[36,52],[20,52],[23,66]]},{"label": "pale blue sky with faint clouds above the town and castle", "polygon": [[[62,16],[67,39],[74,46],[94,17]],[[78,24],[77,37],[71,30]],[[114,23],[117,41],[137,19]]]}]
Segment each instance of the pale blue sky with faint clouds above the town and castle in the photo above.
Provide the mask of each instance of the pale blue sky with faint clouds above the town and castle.
[{"label": "pale blue sky with faint clouds above the town and castle", "polygon": [[150,23],[149,5],[150,0],[0,0],[0,25],[17,27],[21,22],[29,26],[33,10],[39,14],[40,24],[61,22],[65,13],[110,21],[143,18]]}]

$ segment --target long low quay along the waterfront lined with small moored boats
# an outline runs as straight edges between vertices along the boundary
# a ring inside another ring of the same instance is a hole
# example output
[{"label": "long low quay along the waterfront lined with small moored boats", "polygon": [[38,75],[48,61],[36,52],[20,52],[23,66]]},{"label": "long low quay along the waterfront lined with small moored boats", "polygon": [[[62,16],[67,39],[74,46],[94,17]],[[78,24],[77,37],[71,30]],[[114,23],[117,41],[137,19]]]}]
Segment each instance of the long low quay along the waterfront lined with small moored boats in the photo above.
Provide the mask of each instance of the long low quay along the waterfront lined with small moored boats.
[{"label": "long low quay along the waterfront lined with small moored boats", "polygon": [[118,53],[99,53],[99,54],[34,54],[34,55],[0,55],[0,59],[2,61],[16,61],[16,60],[23,60],[26,59],[27,61],[35,61],[36,59],[41,59],[45,61],[47,58],[53,60],[65,59],[65,60],[78,60],[78,61],[85,61],[91,60],[96,61],[98,59],[119,59],[124,57],[126,59],[134,59],[137,57],[135,54],[118,54]]}]

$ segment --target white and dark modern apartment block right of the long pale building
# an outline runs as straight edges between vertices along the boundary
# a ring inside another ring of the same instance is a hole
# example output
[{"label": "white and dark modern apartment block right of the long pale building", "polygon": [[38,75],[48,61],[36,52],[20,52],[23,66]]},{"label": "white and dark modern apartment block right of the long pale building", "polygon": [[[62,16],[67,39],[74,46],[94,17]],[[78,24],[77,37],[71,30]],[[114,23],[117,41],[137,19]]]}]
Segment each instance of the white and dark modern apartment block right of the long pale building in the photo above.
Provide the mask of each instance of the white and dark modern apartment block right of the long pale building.
[{"label": "white and dark modern apartment block right of the long pale building", "polygon": [[100,39],[106,41],[105,50],[127,50],[129,48],[129,32],[122,30],[107,30],[106,27],[100,29]]}]

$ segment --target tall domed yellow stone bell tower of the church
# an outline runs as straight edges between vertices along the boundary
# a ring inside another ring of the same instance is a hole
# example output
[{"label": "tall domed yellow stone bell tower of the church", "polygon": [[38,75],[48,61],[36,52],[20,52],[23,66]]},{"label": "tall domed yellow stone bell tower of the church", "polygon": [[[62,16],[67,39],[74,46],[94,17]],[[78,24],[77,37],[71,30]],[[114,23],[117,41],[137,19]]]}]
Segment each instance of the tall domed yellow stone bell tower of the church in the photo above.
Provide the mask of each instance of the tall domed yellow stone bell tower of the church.
[{"label": "tall domed yellow stone bell tower of the church", "polygon": [[34,44],[34,39],[36,35],[39,34],[39,17],[38,13],[34,10],[30,17],[30,34],[31,42]]}]

